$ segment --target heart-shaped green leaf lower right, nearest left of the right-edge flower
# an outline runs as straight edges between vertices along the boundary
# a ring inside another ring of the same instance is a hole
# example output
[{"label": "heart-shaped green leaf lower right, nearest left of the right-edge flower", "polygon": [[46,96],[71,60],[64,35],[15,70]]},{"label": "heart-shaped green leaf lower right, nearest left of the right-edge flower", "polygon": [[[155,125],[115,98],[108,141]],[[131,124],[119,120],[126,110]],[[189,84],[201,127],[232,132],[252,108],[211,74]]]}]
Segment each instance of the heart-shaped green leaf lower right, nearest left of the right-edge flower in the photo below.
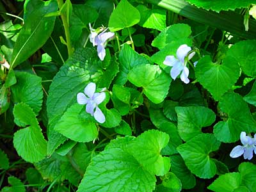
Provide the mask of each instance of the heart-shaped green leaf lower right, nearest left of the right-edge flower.
[{"label": "heart-shaped green leaf lower right, nearest left of the right-edge flower", "polygon": [[202,179],[209,179],[214,177],[217,170],[209,154],[218,150],[220,144],[213,134],[198,134],[177,147],[177,150],[191,173]]}]

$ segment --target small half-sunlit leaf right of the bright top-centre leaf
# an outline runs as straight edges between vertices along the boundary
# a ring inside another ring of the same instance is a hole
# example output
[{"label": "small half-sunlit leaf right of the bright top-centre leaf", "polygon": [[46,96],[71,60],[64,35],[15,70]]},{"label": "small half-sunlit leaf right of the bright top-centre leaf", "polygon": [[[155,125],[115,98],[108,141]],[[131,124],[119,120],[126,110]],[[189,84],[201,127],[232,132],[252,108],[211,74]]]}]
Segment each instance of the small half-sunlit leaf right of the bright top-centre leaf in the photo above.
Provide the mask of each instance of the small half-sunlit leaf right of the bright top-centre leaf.
[{"label": "small half-sunlit leaf right of the bright top-centre leaf", "polygon": [[157,29],[163,31],[166,28],[166,11],[160,9],[148,9],[145,5],[136,7],[141,15],[139,25],[143,28]]}]

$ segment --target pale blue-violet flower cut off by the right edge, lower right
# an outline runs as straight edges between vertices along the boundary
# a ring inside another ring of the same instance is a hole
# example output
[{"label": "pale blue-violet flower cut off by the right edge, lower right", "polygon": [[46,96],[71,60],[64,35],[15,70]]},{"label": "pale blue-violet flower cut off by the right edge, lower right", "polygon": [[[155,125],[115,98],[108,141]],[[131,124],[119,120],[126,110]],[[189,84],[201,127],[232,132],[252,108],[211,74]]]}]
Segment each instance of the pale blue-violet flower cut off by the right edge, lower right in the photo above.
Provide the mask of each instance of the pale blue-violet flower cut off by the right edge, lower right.
[{"label": "pale blue-violet flower cut off by the right edge, lower right", "polygon": [[236,158],[244,155],[244,159],[252,159],[253,151],[256,154],[256,134],[254,134],[254,138],[250,136],[246,136],[246,132],[241,132],[240,140],[243,146],[237,145],[230,152],[230,157]]}]

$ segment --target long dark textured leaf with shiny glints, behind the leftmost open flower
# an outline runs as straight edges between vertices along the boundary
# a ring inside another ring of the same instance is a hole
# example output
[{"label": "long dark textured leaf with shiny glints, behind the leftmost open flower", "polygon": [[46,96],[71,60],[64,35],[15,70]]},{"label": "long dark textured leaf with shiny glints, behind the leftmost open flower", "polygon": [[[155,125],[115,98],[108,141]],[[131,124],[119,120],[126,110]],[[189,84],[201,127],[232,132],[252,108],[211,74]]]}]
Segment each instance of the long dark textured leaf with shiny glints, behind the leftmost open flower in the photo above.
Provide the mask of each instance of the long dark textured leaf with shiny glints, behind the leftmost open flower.
[{"label": "long dark textured leaf with shiny glints, behind the leftmost open flower", "polygon": [[[116,75],[118,63],[113,61],[107,68],[103,68],[102,63],[95,58],[97,58],[95,49],[77,49],[60,68],[51,83],[49,97],[47,97],[48,154],[52,154],[66,140],[66,137],[54,131],[54,126],[65,111],[77,102],[77,93],[83,92],[84,87],[91,81],[99,82],[97,88],[104,86],[108,88]],[[107,71],[108,77],[105,76]],[[64,100],[65,102],[63,102]]]}]

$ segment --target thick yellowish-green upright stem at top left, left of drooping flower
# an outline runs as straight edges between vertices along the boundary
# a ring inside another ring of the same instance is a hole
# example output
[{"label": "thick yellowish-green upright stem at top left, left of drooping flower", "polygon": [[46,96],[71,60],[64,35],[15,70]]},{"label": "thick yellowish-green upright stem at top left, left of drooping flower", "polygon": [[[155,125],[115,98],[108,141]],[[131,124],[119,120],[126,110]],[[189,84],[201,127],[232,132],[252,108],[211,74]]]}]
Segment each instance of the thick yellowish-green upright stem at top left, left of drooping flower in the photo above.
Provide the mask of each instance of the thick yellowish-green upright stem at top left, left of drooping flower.
[{"label": "thick yellowish-green upright stem at top left, left of drooping flower", "polygon": [[[61,9],[61,7],[63,6],[63,0],[58,0],[58,6]],[[68,19],[67,15],[61,13],[61,20],[63,22],[65,36],[66,36],[68,56],[70,56],[72,54],[72,44],[70,40],[70,31],[69,31],[69,24],[67,19]]]}]

